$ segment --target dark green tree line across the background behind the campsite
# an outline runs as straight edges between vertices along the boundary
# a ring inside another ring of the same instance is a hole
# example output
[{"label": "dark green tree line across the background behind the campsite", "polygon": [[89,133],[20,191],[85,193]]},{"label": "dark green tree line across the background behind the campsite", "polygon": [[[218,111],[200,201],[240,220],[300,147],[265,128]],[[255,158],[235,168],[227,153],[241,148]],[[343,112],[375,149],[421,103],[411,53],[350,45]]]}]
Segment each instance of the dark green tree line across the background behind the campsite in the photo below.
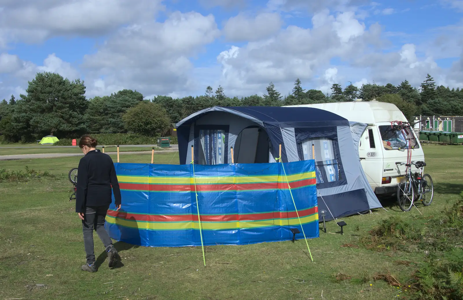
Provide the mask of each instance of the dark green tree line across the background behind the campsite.
[{"label": "dark green tree line across the background behind the campsite", "polygon": [[108,96],[85,97],[80,79],[70,81],[63,76],[43,72],[29,81],[26,94],[16,100],[0,103],[0,134],[6,141],[33,141],[45,135],[77,137],[84,133],[126,133],[159,136],[188,115],[211,106],[287,106],[363,99],[394,103],[410,119],[413,115],[463,115],[463,89],[437,86],[427,75],[420,88],[405,80],[398,86],[391,83],[363,84],[351,82],[344,89],[333,84],[331,94],[302,88],[299,79],[291,93],[283,96],[270,82],[266,94],[248,97],[227,97],[224,88],[215,92],[211,86],[205,94],[172,98],[157,96],[144,99],[143,94],[129,89]]}]

